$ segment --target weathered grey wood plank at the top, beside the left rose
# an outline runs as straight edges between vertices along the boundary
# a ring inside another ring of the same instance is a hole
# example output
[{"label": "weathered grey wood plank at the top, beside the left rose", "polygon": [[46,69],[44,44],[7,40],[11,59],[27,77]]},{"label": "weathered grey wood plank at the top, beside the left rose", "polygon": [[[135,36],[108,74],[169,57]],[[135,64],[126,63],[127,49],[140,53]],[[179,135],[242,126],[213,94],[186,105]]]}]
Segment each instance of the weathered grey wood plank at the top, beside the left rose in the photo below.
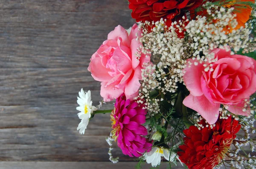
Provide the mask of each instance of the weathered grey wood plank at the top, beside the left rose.
[{"label": "weathered grey wood plank at the top, beside the left rose", "polygon": [[1,0],[0,68],[86,68],[117,25],[134,24],[125,0]]}]

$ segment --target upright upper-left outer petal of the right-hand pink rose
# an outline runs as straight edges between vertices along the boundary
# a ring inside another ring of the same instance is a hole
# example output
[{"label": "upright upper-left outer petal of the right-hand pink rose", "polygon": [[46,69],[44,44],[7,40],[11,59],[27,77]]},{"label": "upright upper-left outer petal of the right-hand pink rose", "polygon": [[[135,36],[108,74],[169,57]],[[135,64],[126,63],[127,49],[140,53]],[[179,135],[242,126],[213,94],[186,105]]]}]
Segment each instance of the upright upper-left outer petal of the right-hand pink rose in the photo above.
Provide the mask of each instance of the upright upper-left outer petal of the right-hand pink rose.
[{"label": "upright upper-left outer petal of the right-hand pink rose", "polygon": [[200,79],[202,76],[202,70],[204,70],[203,64],[198,63],[198,65],[194,65],[194,60],[187,59],[187,62],[192,62],[192,65],[187,64],[186,68],[184,69],[185,74],[183,76],[184,83],[187,89],[193,96],[201,96],[203,94],[201,89]]}]

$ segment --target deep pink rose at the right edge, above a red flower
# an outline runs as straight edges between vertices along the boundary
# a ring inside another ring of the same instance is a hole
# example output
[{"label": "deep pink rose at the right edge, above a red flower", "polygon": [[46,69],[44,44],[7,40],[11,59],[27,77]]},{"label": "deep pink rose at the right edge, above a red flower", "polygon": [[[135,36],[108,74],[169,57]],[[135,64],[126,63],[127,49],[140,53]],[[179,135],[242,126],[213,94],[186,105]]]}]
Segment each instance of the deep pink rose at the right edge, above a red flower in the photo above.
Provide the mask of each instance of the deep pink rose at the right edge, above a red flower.
[{"label": "deep pink rose at the right edge, above a red flower", "polygon": [[219,115],[221,104],[228,105],[228,110],[237,115],[249,115],[244,109],[244,99],[256,91],[256,61],[242,55],[231,55],[230,48],[215,49],[216,62],[211,69],[204,71],[204,64],[186,66],[183,80],[190,91],[183,104],[197,111],[209,124],[214,124]]}]

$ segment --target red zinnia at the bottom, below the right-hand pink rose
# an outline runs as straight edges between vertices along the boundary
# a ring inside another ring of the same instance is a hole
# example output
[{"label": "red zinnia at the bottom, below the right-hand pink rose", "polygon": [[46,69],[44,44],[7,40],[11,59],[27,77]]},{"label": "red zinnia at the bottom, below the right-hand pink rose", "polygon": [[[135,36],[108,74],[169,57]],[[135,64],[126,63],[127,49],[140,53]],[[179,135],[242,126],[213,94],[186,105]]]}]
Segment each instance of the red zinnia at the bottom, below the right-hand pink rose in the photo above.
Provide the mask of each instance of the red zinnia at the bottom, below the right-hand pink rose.
[{"label": "red zinnia at the bottom, below the right-hand pink rose", "polygon": [[179,146],[182,151],[177,154],[189,169],[212,169],[225,157],[241,125],[231,116],[227,119],[219,118],[212,129],[206,127],[204,120],[199,124],[204,129],[190,126],[183,130],[186,137],[183,139],[184,144]]}]

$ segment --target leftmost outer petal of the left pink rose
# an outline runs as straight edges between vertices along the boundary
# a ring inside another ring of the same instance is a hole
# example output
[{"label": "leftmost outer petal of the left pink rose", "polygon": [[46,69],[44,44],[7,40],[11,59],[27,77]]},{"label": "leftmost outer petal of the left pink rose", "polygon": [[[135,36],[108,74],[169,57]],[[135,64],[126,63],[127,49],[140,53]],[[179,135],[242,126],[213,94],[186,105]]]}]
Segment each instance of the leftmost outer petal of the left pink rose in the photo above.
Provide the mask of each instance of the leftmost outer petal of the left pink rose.
[{"label": "leftmost outer petal of the left pink rose", "polygon": [[99,82],[108,82],[112,77],[108,74],[110,69],[105,68],[101,63],[100,57],[95,57],[91,59],[88,70],[92,73],[93,79]]}]

